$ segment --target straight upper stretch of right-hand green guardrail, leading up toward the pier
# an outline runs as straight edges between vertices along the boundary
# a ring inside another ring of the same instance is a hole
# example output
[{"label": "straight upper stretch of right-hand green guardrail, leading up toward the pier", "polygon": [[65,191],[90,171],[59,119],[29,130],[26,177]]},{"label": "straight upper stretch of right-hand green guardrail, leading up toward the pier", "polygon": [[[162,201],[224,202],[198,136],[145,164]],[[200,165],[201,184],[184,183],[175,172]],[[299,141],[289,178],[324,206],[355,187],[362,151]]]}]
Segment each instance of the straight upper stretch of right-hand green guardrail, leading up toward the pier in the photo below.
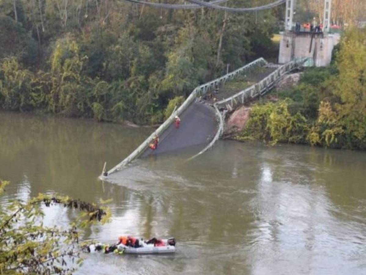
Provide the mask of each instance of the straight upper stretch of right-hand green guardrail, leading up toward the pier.
[{"label": "straight upper stretch of right-hand green guardrail, leading up toward the pier", "polygon": [[228,109],[234,108],[235,105],[244,104],[246,99],[253,98],[264,94],[270,87],[272,87],[284,74],[293,71],[299,65],[307,61],[309,57],[302,57],[299,59],[292,60],[282,66],[273,73],[269,74],[266,78],[262,79],[258,83],[234,94],[231,97],[217,101],[215,105],[224,105]]}]

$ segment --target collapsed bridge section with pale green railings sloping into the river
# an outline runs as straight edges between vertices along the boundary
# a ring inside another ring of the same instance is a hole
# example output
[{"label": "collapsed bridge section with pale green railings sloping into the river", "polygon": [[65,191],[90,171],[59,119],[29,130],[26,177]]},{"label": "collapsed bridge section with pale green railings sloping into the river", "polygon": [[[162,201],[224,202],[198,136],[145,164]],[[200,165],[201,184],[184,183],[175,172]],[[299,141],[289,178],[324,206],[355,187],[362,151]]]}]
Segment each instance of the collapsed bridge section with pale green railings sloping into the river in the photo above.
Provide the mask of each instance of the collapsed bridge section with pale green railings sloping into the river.
[{"label": "collapsed bridge section with pale green railings sloping into the river", "polygon": [[[103,171],[103,175],[100,178],[107,178],[109,174],[121,170],[141,156],[155,155],[199,144],[204,144],[206,147],[197,155],[205,152],[223,133],[224,116],[228,109],[231,110],[235,105],[243,104],[248,99],[264,94],[272,88],[273,84],[283,77],[284,74],[294,70],[305,61],[306,59],[292,60],[291,62],[277,67],[276,69],[271,70],[269,75],[264,79],[240,92],[236,92],[231,96],[227,92],[224,93],[225,96],[229,97],[220,101],[212,102],[212,100],[204,100],[203,98],[205,97],[205,94],[214,92],[215,90],[217,91],[217,88],[223,86],[228,80],[234,79],[239,75],[250,73],[255,68],[263,67],[268,63],[263,58],[259,58],[231,73],[196,87],[184,103],[173,111],[171,116],[147,137],[137,149],[108,172]],[[220,98],[220,93],[215,94],[215,97],[216,96]],[[179,129],[175,129],[174,126],[176,115],[178,115],[182,121]],[[149,144],[153,141],[155,136],[158,136],[160,141],[158,148],[152,150],[149,148]]]}]

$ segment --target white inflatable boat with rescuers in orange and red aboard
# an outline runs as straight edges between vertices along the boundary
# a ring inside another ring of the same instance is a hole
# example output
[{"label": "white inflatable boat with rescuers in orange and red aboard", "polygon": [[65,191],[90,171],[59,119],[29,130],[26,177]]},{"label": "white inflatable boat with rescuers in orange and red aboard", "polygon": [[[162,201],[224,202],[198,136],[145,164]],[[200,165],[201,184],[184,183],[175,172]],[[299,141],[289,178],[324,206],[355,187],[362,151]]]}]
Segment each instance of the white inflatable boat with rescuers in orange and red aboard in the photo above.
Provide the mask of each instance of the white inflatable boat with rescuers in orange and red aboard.
[{"label": "white inflatable boat with rescuers in orange and red aboard", "polygon": [[175,239],[158,239],[158,242],[152,244],[139,239],[139,247],[131,247],[123,244],[119,245],[104,245],[104,244],[92,244],[89,245],[87,252],[99,252],[104,253],[130,253],[130,254],[153,254],[153,253],[174,253],[175,252]]}]

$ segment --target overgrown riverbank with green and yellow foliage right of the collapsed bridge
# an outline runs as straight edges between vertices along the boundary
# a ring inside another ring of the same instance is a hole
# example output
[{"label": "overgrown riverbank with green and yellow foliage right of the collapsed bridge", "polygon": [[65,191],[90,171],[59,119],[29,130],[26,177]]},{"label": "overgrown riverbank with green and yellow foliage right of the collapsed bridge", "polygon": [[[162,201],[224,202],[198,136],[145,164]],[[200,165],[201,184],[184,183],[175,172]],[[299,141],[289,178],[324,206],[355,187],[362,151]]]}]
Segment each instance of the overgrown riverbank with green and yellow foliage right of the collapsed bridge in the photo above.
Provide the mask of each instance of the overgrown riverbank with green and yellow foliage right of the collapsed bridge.
[{"label": "overgrown riverbank with green and yellow foliage right of the collapsed bridge", "polygon": [[365,39],[366,29],[348,30],[329,67],[307,68],[298,85],[251,104],[249,119],[233,138],[365,150]]}]

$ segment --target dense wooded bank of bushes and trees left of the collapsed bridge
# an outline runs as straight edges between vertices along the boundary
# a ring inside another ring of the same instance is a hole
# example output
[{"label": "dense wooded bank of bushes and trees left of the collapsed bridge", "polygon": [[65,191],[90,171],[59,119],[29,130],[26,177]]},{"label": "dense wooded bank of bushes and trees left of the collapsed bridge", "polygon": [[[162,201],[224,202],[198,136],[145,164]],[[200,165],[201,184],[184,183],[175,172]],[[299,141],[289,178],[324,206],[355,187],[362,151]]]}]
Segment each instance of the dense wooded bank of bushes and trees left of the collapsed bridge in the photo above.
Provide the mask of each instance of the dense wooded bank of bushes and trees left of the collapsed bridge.
[{"label": "dense wooded bank of bushes and trees left of the collapsed bridge", "polygon": [[0,1],[0,108],[158,123],[169,100],[261,55],[275,22],[271,11],[255,23],[211,9],[59,2]]}]

